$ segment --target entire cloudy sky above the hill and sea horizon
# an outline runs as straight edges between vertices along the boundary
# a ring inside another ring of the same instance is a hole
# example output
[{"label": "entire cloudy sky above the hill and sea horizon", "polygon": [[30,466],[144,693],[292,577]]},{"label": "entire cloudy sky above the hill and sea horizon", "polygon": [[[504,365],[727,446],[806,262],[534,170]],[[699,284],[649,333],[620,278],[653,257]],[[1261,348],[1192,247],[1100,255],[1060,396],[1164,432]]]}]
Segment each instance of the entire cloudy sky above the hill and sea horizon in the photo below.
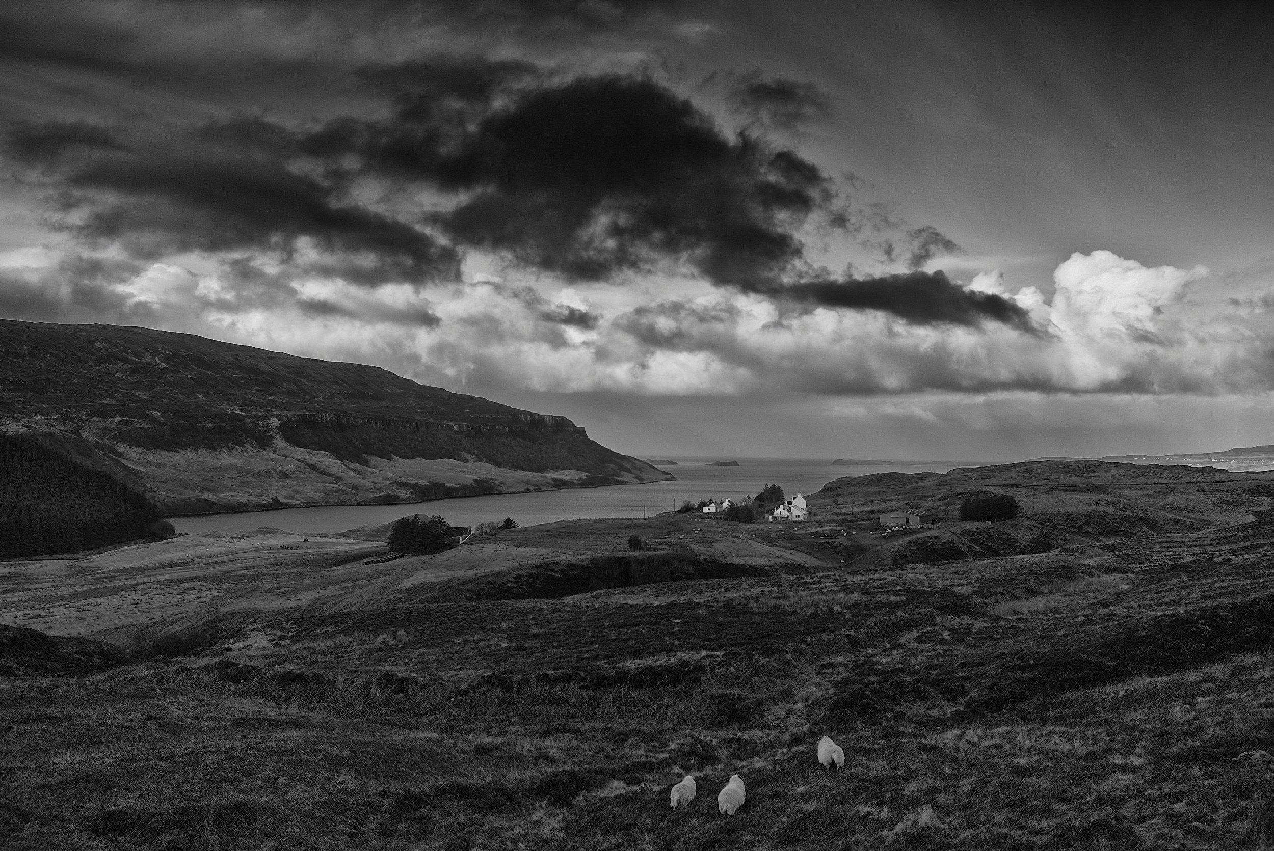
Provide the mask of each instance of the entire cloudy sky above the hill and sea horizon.
[{"label": "entire cloudy sky above the hill and sea horizon", "polygon": [[0,317],[646,457],[1274,443],[1256,4],[0,6]]}]

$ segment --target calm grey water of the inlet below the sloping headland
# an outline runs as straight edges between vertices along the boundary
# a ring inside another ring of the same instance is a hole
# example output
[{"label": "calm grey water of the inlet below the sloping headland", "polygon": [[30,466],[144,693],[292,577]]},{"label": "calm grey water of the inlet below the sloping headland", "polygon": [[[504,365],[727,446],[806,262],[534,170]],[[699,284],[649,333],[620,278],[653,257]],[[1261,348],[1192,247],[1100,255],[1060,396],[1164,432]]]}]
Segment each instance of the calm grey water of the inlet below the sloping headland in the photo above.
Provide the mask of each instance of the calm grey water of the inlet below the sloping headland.
[{"label": "calm grey water of the inlet below the sloping headland", "polygon": [[671,511],[687,499],[694,502],[726,497],[738,499],[755,494],[769,483],[780,484],[789,497],[794,497],[798,492],[814,493],[832,479],[846,475],[891,471],[945,473],[957,466],[978,466],[977,462],[961,461],[833,465],[827,460],[801,459],[739,459],[739,466],[707,466],[708,461],[720,459],[673,456],[671,460],[678,461],[678,465],[660,469],[675,475],[676,482],[541,493],[499,493],[489,497],[431,499],[392,506],[282,508],[169,520],[181,533],[236,533],[261,526],[290,533],[338,533],[368,524],[387,524],[414,513],[441,515],[456,526],[505,517],[512,517],[521,525],[530,526],[589,517],[646,517]]}]

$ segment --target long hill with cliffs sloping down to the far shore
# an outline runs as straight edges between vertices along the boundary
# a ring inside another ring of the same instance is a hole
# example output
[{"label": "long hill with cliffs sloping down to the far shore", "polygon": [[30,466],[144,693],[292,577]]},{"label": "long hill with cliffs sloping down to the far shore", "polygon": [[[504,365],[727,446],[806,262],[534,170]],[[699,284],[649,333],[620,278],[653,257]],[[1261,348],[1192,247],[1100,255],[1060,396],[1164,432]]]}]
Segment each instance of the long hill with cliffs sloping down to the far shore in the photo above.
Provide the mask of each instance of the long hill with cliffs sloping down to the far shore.
[{"label": "long hill with cliffs sloping down to the far shore", "polygon": [[0,429],[56,438],[169,515],[671,478],[564,417],[377,367],[111,325],[0,320]]}]

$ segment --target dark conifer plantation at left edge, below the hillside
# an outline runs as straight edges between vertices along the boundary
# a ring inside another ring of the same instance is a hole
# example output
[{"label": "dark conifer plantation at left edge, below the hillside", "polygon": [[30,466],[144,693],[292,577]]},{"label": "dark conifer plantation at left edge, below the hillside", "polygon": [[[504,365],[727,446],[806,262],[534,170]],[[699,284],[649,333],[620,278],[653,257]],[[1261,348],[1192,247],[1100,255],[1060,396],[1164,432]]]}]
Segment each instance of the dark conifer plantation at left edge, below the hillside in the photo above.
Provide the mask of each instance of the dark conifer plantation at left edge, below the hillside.
[{"label": "dark conifer plantation at left edge, below the hillside", "polygon": [[145,494],[27,434],[0,434],[0,558],[74,553],[171,529]]}]

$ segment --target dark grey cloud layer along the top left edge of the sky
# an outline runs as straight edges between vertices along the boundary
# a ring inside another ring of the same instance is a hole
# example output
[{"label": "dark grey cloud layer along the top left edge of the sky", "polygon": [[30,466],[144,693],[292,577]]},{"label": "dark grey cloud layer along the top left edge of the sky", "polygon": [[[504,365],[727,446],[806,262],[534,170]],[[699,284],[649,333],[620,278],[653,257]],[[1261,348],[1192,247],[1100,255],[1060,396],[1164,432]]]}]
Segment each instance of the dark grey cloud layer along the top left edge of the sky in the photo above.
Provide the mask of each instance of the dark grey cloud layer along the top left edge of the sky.
[{"label": "dark grey cloud layer along the top left edge of the sky", "polygon": [[[674,0],[45,0],[0,4],[0,64],[231,93],[270,87],[278,82],[271,78],[330,79],[325,69],[359,55],[366,61],[378,51],[376,42],[395,37],[427,42],[451,32],[568,41],[688,11]],[[262,33],[279,34],[278,46],[262,46],[256,39]],[[352,34],[362,36],[362,45]]]}]

